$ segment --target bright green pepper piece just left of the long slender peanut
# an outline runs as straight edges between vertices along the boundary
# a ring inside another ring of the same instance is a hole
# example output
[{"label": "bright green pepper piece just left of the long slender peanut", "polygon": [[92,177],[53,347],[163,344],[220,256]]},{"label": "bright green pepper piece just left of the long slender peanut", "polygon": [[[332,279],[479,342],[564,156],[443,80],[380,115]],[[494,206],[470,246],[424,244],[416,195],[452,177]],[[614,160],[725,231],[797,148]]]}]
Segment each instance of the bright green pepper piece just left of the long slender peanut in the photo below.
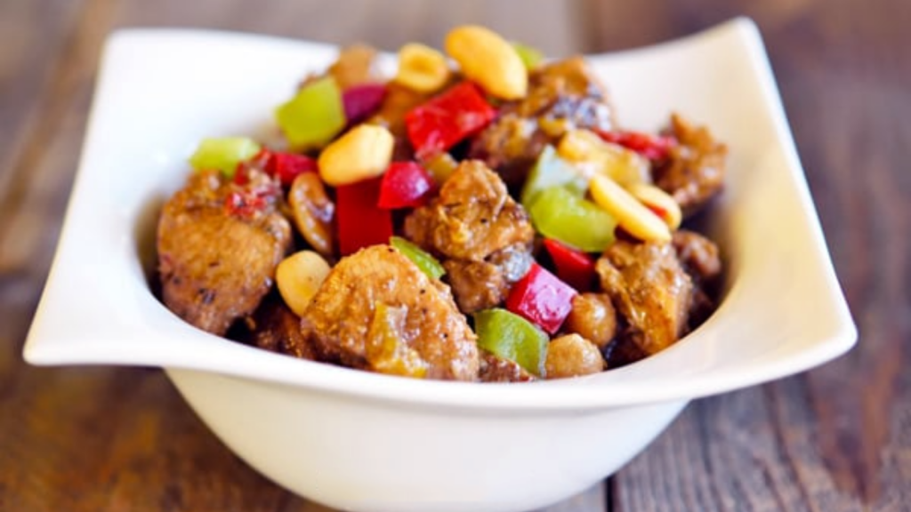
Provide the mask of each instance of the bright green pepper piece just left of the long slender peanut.
[{"label": "bright green pepper piece just left of the long slender peanut", "polygon": [[542,191],[528,215],[539,233],[581,251],[604,251],[614,241],[617,220],[564,187]]}]

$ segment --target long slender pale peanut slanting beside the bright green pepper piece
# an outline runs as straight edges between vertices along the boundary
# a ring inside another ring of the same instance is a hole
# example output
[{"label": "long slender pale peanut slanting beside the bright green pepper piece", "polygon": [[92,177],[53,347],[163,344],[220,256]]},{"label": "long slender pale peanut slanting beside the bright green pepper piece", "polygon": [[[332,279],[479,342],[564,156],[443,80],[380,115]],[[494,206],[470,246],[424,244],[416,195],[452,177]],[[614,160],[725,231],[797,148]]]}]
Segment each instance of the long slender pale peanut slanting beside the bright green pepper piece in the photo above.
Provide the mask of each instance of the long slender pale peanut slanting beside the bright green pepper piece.
[{"label": "long slender pale peanut slanting beside the bright green pepper piece", "polygon": [[644,241],[670,241],[670,229],[664,220],[632,197],[616,181],[597,174],[589,181],[591,197],[614,216],[621,228]]}]

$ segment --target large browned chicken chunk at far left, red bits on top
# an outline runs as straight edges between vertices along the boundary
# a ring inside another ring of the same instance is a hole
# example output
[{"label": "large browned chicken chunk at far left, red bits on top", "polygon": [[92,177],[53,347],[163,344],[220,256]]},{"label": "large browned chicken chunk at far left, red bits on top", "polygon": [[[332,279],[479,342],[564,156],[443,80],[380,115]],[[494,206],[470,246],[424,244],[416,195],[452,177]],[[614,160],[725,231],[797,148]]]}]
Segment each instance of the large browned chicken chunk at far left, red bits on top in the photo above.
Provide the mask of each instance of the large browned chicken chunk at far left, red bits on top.
[{"label": "large browned chicken chunk at far left, red bits on top", "polygon": [[291,247],[277,182],[251,170],[245,185],[218,171],[190,175],[161,211],[159,276],[169,310],[210,333],[256,310]]}]

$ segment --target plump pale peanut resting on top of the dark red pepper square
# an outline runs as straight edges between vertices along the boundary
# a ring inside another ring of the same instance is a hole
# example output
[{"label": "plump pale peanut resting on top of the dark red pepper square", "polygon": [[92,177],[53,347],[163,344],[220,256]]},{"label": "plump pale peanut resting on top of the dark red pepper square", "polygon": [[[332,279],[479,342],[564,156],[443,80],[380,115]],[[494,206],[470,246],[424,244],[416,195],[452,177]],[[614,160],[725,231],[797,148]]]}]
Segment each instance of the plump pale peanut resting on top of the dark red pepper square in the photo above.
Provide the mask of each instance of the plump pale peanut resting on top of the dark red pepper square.
[{"label": "plump pale peanut resting on top of the dark red pepper square", "polygon": [[395,140],[388,129],[359,125],[322,150],[320,177],[333,187],[383,174],[393,159]]}]

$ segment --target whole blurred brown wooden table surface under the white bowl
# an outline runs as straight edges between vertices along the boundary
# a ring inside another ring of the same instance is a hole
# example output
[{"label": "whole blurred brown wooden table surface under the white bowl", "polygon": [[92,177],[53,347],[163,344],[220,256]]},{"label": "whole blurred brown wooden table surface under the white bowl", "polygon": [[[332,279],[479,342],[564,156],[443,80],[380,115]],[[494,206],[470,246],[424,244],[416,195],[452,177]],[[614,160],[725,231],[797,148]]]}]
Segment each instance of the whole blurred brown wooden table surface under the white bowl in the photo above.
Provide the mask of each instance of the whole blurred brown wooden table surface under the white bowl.
[{"label": "whole blurred brown wooden table surface under the white bowl", "polygon": [[4,0],[0,510],[325,510],[231,455],[158,370],[21,360],[111,29],[218,27],[394,49],[438,45],[447,27],[479,21],[565,55],[739,14],[763,30],[860,344],[809,373],[696,401],[603,486],[548,510],[911,510],[906,0]]}]

